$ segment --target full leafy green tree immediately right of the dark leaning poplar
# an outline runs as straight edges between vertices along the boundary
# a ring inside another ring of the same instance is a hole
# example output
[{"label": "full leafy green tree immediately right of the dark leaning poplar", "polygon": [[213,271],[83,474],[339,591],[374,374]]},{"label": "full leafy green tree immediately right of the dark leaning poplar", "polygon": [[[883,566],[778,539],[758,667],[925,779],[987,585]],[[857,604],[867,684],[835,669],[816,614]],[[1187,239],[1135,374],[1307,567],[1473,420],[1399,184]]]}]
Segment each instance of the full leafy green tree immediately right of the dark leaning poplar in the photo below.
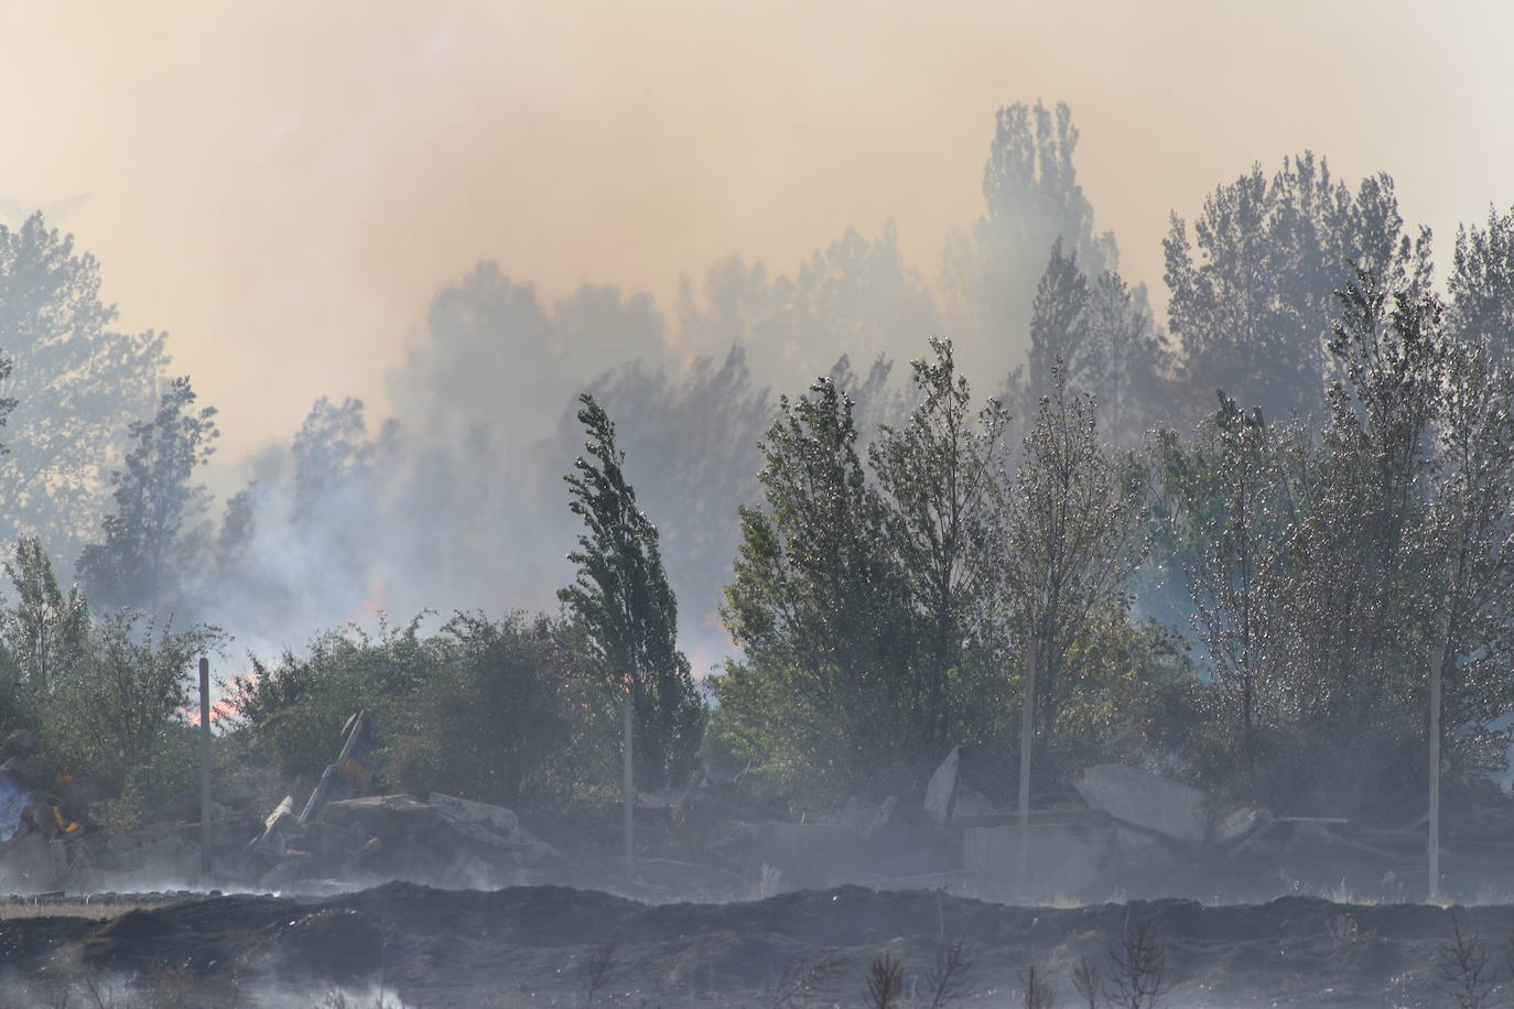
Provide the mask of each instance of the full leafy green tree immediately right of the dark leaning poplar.
[{"label": "full leafy green tree immediately right of the dark leaning poplar", "polygon": [[914,617],[852,402],[830,378],[778,401],[763,507],[742,508],[725,626],[743,658],[712,688],[721,729],[778,781],[887,794],[917,756]]}]

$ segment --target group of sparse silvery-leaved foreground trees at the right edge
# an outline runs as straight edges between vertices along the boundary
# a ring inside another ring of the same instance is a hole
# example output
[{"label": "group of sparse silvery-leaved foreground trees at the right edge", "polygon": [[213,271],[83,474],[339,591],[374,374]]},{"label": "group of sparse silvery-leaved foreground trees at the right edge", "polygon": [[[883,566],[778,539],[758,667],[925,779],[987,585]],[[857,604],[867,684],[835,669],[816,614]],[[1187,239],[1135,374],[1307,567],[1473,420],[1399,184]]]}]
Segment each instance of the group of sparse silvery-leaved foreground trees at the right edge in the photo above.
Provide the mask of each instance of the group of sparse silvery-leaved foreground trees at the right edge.
[{"label": "group of sparse silvery-leaved foreground trees at the right edge", "polygon": [[[1360,274],[1340,298],[1323,430],[1222,396],[1160,442],[1164,502],[1214,664],[1193,765],[1279,809],[1370,809],[1419,790],[1444,663],[1447,767],[1502,759],[1514,703],[1514,380],[1432,296]],[[1329,776],[1317,775],[1331,765]]]}]

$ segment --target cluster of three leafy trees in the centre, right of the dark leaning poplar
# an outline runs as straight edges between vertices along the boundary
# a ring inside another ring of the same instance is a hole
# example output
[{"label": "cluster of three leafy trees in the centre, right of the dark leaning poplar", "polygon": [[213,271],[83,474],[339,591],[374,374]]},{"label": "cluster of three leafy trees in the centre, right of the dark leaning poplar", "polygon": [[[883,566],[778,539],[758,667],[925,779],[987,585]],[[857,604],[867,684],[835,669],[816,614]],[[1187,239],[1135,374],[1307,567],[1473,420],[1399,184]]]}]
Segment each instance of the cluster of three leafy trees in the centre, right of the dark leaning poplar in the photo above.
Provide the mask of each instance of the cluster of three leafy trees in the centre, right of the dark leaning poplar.
[{"label": "cluster of three leafy trees in the centre, right of the dark leaning poplar", "polygon": [[974,414],[951,343],[933,349],[919,407],[869,452],[874,481],[851,401],[821,380],[781,401],[766,508],[743,513],[725,617],[745,658],[712,685],[722,746],[818,799],[917,787],[954,744],[1005,767],[1026,641],[1043,753],[1076,762],[1142,734],[1119,714],[1140,666],[1139,635],[1116,634],[1140,557],[1125,463],[1098,445],[1092,402],[1058,389],[1008,484],[1008,418],[995,401]]}]

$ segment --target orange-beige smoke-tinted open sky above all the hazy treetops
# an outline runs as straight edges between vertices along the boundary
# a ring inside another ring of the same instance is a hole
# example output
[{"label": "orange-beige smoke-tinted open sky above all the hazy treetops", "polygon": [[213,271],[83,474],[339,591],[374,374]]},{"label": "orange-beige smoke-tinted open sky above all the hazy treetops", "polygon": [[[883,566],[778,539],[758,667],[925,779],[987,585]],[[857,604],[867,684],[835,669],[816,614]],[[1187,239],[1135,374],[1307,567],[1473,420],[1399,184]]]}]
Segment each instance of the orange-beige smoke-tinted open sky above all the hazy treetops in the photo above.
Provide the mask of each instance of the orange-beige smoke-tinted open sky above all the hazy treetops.
[{"label": "orange-beige smoke-tinted open sky above all the hazy treetops", "polygon": [[1011,101],[1072,106],[1096,224],[1158,295],[1169,210],[1254,160],[1385,169],[1443,251],[1514,204],[1509,3],[5,0],[0,36],[0,215],[58,210],[232,454],[321,393],[382,410],[481,257],[666,306],[727,253],[786,272],[892,216],[934,280]]}]

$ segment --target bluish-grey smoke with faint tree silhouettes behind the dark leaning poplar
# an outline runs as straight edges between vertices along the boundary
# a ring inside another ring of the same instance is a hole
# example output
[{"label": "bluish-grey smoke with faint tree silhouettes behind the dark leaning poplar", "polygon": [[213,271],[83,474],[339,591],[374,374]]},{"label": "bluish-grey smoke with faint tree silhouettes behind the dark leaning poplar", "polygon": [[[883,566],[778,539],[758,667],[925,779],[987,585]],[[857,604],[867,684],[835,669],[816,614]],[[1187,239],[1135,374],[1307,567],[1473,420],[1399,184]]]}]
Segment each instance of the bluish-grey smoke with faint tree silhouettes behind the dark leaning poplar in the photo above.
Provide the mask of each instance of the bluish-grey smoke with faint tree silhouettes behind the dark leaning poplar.
[{"label": "bluish-grey smoke with faint tree silhouettes behind the dark leaning poplar", "polygon": [[[1055,124],[1052,129],[1051,124]],[[969,371],[996,390],[1023,357],[1036,280],[1058,236],[1114,259],[1072,166],[1066,106],[1014,106],[989,147],[984,216],[948,259]],[[831,374],[864,430],[902,419],[907,369],[943,310],[887,222],[855,228],[786,272],[728,256],[684,277],[669,319],[645,292],[583,286],[550,304],[486,260],[430,300],[424,333],[388,378],[392,416],[315,401],[288,445],[245,463],[209,576],[180,614],[257,649],[345,620],[430,610],[551,610],[581,528],[563,475],[581,452],[577,396],[618,424],[627,475],[657,523],[696,669],[730,652],[719,619],[754,504],[759,442],[778,395]],[[995,333],[998,339],[987,339]],[[861,375],[866,375],[863,378]]]}]

